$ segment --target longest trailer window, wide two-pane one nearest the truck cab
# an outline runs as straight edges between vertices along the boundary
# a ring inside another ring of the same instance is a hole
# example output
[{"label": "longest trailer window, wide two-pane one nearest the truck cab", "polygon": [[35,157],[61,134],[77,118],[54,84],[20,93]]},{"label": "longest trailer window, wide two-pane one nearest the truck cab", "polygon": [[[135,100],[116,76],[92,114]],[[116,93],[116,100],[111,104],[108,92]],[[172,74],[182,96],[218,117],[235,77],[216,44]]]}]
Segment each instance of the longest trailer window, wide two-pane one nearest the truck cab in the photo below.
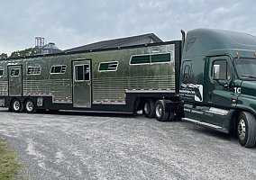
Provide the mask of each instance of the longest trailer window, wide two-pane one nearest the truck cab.
[{"label": "longest trailer window, wide two-pane one nearest the truck cab", "polygon": [[131,65],[155,64],[170,61],[170,53],[133,55],[130,59]]}]

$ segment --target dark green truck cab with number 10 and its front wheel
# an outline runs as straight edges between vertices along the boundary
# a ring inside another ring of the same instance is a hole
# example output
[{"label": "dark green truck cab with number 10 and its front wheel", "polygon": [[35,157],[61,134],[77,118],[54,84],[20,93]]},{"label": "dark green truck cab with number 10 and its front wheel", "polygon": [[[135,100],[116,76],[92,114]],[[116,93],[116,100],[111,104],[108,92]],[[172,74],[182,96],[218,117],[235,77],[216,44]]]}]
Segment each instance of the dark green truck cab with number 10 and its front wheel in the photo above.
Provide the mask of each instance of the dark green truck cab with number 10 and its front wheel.
[{"label": "dark green truck cab with number 10 and its front wheel", "polygon": [[256,143],[256,37],[242,32],[187,32],[180,67],[185,120]]}]

